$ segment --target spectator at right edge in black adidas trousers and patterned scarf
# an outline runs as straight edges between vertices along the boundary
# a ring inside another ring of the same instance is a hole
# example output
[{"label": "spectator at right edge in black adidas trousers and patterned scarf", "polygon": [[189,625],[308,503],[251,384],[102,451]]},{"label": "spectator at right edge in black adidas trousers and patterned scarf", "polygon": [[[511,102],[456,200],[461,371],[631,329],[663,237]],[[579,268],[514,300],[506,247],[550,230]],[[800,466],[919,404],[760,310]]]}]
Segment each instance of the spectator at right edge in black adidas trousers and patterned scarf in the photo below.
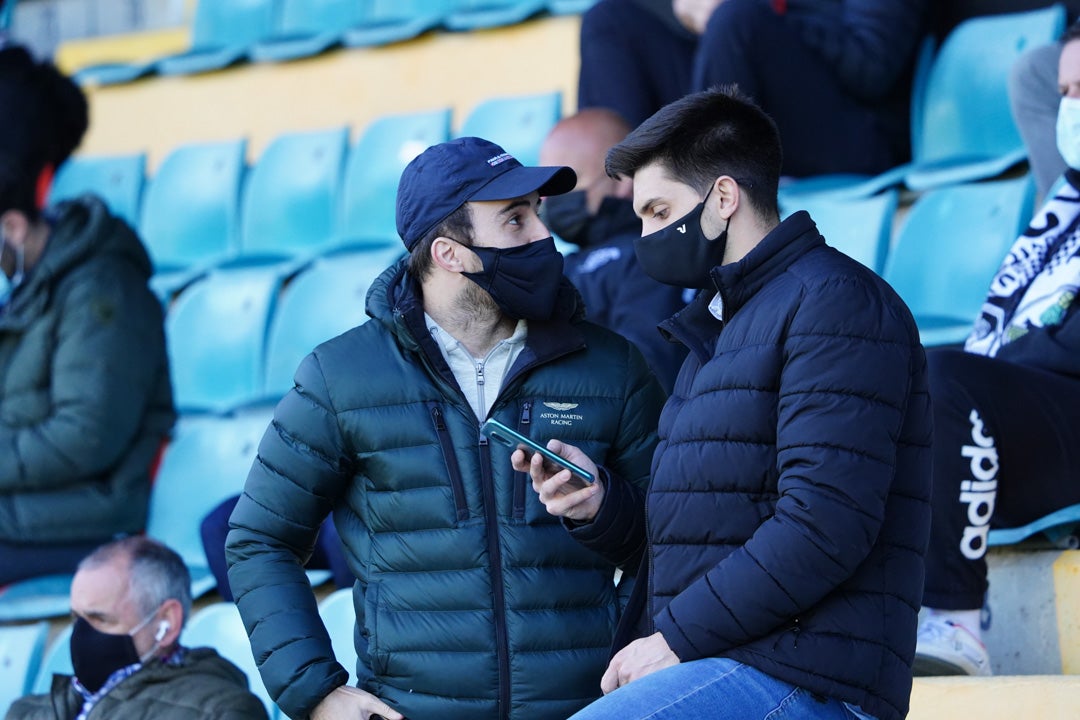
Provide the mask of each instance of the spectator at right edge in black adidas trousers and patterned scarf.
[{"label": "spectator at right edge in black adidas trousers and patterned scarf", "polygon": [[990,283],[963,351],[929,354],[934,499],[918,675],[989,675],[980,634],[990,528],[1080,503],[1080,27],[1066,33],[1066,185]]}]

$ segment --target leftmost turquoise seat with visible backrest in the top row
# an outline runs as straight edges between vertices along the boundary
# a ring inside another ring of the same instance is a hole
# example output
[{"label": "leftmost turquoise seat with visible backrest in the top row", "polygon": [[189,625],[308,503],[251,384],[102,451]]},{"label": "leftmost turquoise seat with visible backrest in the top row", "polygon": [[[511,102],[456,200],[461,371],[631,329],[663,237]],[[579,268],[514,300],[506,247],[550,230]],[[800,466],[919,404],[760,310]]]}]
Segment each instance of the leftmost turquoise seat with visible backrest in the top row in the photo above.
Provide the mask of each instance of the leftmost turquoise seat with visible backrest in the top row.
[{"label": "leftmost turquoise seat with visible backrest in the top row", "polygon": [[153,64],[161,74],[220,70],[247,59],[251,45],[273,36],[279,0],[200,0],[191,49]]}]

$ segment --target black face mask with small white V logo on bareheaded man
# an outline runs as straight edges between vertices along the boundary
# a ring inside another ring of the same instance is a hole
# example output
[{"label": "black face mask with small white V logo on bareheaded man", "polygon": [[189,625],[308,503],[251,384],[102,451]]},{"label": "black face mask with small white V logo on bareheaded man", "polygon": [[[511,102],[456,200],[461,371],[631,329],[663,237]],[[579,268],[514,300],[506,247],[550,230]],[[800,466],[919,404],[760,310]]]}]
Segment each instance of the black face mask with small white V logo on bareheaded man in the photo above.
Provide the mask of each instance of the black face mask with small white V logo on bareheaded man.
[{"label": "black face mask with small white V logo on bareheaded man", "polygon": [[[705,200],[708,200],[707,194]],[[724,264],[728,229],[725,227],[713,240],[705,237],[701,229],[705,200],[675,222],[634,241],[637,261],[649,277],[676,287],[699,290],[713,287],[708,273]],[[728,225],[731,225],[730,219]]]}]

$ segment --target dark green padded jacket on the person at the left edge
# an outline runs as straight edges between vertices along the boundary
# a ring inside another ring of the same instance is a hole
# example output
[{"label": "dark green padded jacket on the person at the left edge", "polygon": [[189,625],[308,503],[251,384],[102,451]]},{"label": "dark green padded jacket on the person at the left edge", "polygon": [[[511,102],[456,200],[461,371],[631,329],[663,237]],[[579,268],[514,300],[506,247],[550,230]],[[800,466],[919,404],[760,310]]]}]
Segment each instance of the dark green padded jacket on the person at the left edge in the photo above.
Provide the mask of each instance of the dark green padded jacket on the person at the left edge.
[{"label": "dark green padded jacket on the person at the left edge", "polygon": [[41,260],[0,309],[0,541],[146,526],[174,420],[150,273],[132,230],[87,196],[57,208]]}]

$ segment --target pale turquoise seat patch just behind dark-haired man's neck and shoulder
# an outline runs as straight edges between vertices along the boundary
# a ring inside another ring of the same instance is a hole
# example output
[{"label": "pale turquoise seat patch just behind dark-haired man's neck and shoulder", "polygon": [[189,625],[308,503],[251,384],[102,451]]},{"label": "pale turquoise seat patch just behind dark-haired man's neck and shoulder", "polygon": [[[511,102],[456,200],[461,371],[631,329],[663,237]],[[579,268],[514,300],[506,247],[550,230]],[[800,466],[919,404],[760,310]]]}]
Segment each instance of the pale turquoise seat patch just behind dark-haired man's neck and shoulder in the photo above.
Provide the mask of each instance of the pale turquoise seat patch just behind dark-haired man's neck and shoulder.
[{"label": "pale turquoise seat patch just behind dark-haired man's neck and shoulder", "polygon": [[784,216],[795,210],[809,212],[829,245],[880,274],[899,200],[895,188],[869,198],[807,194],[784,200],[781,212]]}]

